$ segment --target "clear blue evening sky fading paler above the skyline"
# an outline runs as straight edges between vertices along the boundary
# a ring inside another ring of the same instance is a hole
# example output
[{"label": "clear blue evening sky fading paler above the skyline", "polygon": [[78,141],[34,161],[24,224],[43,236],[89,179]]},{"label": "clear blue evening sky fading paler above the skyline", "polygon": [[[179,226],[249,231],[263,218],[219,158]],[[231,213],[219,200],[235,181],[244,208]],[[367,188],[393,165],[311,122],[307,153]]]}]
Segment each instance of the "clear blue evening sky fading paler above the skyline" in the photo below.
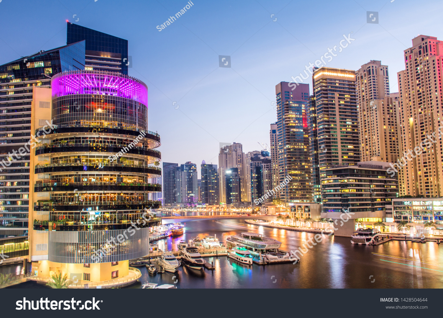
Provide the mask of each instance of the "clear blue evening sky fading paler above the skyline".
[{"label": "clear blue evening sky fading paler above the skyline", "polygon": [[[443,39],[438,0],[192,2],[159,31],[187,1],[0,0],[0,64],[65,45],[66,20],[127,39],[129,75],[148,85],[149,130],[162,138],[162,160],[191,161],[199,170],[203,159],[218,164],[220,142],[241,143],[245,152],[269,145],[275,85],[339,45],[343,34],[352,31],[355,41],[327,66],[357,70],[381,60],[391,92],[412,38]],[[380,23],[366,23],[366,11],[378,11]],[[231,56],[232,68],[220,68],[218,55]],[[306,83],[312,92],[311,79]]]}]

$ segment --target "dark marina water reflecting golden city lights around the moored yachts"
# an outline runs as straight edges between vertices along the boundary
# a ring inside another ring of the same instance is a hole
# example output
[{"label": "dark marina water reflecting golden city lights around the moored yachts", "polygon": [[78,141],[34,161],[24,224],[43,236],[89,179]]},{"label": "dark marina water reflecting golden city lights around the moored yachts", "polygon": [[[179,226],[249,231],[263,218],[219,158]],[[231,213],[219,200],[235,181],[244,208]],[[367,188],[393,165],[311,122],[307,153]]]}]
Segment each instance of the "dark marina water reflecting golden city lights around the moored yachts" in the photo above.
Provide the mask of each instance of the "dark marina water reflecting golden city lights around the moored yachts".
[{"label": "dark marina water reflecting golden city lights around the moored yachts", "polygon": [[[184,235],[158,242],[161,250],[166,244],[169,250],[176,249],[182,239],[215,234],[225,242],[227,235],[246,231],[282,242],[282,250],[294,250],[314,235],[248,225],[242,220],[193,220],[184,224]],[[129,288],[141,288],[145,282],[173,284],[175,279],[178,288],[443,288],[443,245],[434,242],[361,246],[351,244],[349,238],[331,236],[313,246],[295,265],[247,266],[225,256],[205,259],[214,262],[216,269],[197,271],[182,266],[175,278],[172,273],[152,276],[140,267],[140,283]],[[20,270],[16,265],[0,268],[1,273]],[[35,287],[28,282],[16,288]]]}]

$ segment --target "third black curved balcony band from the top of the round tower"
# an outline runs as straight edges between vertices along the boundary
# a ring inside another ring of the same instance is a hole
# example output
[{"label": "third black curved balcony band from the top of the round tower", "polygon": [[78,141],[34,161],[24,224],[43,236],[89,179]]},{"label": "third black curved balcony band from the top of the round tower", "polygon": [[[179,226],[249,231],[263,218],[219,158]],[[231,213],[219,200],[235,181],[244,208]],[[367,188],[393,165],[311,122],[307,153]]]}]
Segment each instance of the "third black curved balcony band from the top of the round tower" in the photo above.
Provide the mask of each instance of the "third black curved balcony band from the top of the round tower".
[{"label": "third black curved balcony band from the top of the round tower", "polygon": [[[54,163],[46,165],[36,165],[35,173],[51,172],[69,172],[69,171],[114,171],[114,172],[135,172],[148,174],[148,178],[161,176],[162,170],[157,167],[144,165],[128,165],[124,163],[100,163],[100,164],[81,164],[81,163]],[[151,176],[152,175],[152,176]]]}]

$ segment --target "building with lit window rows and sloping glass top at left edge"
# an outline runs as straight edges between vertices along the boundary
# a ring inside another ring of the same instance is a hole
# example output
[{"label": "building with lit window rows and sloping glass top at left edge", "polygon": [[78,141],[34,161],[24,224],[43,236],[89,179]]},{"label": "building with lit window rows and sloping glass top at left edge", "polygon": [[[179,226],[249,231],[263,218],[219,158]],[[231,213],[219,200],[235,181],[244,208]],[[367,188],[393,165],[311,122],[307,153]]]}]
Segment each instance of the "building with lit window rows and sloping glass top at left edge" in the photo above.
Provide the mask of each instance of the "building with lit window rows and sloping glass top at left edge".
[{"label": "building with lit window rows and sloping glass top at left edge", "polygon": [[[31,138],[31,107],[51,108],[51,101],[34,104],[35,87],[50,87],[51,76],[83,69],[85,42],[40,51],[0,66],[0,238],[23,235],[28,229],[30,155],[14,158]],[[48,77],[47,77],[48,76]],[[35,125],[47,125],[43,118]],[[34,134],[35,132],[32,131]]]}]

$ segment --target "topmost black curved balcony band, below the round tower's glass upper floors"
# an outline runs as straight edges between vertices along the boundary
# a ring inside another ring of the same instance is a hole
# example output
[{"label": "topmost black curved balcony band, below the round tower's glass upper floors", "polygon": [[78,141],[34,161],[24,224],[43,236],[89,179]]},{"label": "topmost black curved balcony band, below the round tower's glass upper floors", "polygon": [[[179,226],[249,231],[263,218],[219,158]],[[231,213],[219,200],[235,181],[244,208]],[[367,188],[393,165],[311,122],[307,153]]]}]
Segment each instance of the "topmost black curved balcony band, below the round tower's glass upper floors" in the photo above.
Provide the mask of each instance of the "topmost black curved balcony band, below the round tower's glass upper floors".
[{"label": "topmost black curved balcony band, below the round tower's glass upper floors", "polygon": [[[40,136],[43,132],[46,135],[54,135],[60,133],[108,133],[108,134],[117,134],[117,135],[128,135],[128,136],[139,136],[140,132],[143,129],[138,127],[121,127],[121,126],[112,126],[112,127],[97,127],[97,126],[86,126],[86,125],[54,125],[54,129],[50,129],[46,127],[43,131],[43,127],[39,129],[35,129],[35,136]],[[48,133],[46,133],[49,130]],[[152,131],[145,131],[146,135],[144,138],[148,138],[150,140],[155,141],[155,148],[159,147],[161,144],[160,135],[158,133],[154,133]]]}]

